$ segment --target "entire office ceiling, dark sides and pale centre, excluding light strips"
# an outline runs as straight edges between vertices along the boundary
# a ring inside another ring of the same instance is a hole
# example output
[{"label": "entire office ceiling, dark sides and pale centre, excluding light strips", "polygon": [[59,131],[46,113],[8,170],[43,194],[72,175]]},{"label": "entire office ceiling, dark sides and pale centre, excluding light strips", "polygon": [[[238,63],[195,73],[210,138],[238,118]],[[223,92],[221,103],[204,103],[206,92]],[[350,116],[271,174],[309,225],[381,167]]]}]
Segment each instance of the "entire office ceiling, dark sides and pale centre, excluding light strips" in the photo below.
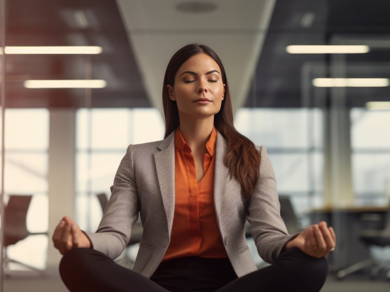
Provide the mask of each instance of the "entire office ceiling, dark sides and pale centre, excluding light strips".
[{"label": "entire office ceiling, dark sides and pale centre, excluding light strips", "polygon": [[[101,46],[100,55],[4,55],[6,107],[161,109],[162,77],[189,42],[220,55],[234,108],[328,106],[315,77],[390,77],[388,0],[7,0],[7,46]],[[184,4],[183,4],[184,3]],[[199,3],[199,1],[197,1]],[[184,5],[185,6],[185,5]],[[195,12],[194,12],[195,11]],[[87,24],[80,24],[82,15]],[[369,44],[359,55],[291,55],[291,44]],[[25,89],[27,79],[105,79],[104,89]],[[390,100],[390,88],[348,88],[345,104]]]}]

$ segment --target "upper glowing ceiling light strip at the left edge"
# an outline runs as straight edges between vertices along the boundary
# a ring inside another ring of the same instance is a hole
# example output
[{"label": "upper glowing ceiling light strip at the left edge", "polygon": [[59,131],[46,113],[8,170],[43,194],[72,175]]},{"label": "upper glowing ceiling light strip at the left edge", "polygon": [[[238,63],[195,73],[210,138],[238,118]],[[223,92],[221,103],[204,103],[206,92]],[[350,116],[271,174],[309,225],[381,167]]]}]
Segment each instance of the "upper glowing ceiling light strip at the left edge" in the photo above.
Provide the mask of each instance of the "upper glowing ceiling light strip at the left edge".
[{"label": "upper glowing ceiling light strip at the left edge", "polygon": [[4,53],[8,55],[27,55],[27,54],[79,54],[79,55],[97,55],[102,52],[98,46],[51,46],[51,47],[10,47],[6,46]]}]

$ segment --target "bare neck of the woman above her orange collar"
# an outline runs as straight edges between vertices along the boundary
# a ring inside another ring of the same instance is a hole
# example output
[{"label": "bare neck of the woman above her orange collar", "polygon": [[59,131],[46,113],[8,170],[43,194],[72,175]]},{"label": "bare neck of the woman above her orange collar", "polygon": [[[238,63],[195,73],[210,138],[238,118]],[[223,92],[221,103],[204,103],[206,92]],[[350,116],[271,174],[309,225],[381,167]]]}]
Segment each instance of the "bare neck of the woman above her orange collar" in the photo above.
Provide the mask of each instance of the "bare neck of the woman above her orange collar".
[{"label": "bare neck of the woman above her orange collar", "polygon": [[203,149],[214,128],[214,115],[186,119],[180,117],[180,133],[192,150]]}]

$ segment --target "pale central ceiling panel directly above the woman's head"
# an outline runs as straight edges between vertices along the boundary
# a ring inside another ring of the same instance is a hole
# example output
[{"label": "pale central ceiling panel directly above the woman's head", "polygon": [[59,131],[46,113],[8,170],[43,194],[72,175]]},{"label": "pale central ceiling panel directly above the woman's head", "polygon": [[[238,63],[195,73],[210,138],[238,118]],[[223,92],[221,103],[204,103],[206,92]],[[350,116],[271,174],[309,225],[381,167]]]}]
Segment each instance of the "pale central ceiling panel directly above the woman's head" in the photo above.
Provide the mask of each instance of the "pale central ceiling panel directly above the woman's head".
[{"label": "pale central ceiling panel directly above the woman's head", "polygon": [[[117,0],[145,89],[162,109],[161,85],[171,56],[188,43],[213,48],[228,75],[233,107],[242,107],[273,13],[275,0]],[[182,11],[180,5],[197,3]],[[203,2],[205,3],[205,2]],[[207,8],[207,6],[205,6]]]}]

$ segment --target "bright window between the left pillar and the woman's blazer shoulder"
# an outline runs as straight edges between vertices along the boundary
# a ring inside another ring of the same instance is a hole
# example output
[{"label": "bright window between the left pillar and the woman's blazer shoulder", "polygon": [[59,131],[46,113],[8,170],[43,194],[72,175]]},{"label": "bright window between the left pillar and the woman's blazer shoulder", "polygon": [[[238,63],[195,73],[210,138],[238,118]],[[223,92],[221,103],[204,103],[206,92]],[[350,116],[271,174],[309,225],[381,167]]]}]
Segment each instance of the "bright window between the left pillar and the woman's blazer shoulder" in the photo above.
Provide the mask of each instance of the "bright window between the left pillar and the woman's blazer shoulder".
[{"label": "bright window between the left pillar and the woman's blazer shoulder", "polygon": [[96,194],[110,194],[129,144],[162,140],[164,123],[156,109],[80,109],[76,115],[76,218],[95,231],[102,216]]}]

